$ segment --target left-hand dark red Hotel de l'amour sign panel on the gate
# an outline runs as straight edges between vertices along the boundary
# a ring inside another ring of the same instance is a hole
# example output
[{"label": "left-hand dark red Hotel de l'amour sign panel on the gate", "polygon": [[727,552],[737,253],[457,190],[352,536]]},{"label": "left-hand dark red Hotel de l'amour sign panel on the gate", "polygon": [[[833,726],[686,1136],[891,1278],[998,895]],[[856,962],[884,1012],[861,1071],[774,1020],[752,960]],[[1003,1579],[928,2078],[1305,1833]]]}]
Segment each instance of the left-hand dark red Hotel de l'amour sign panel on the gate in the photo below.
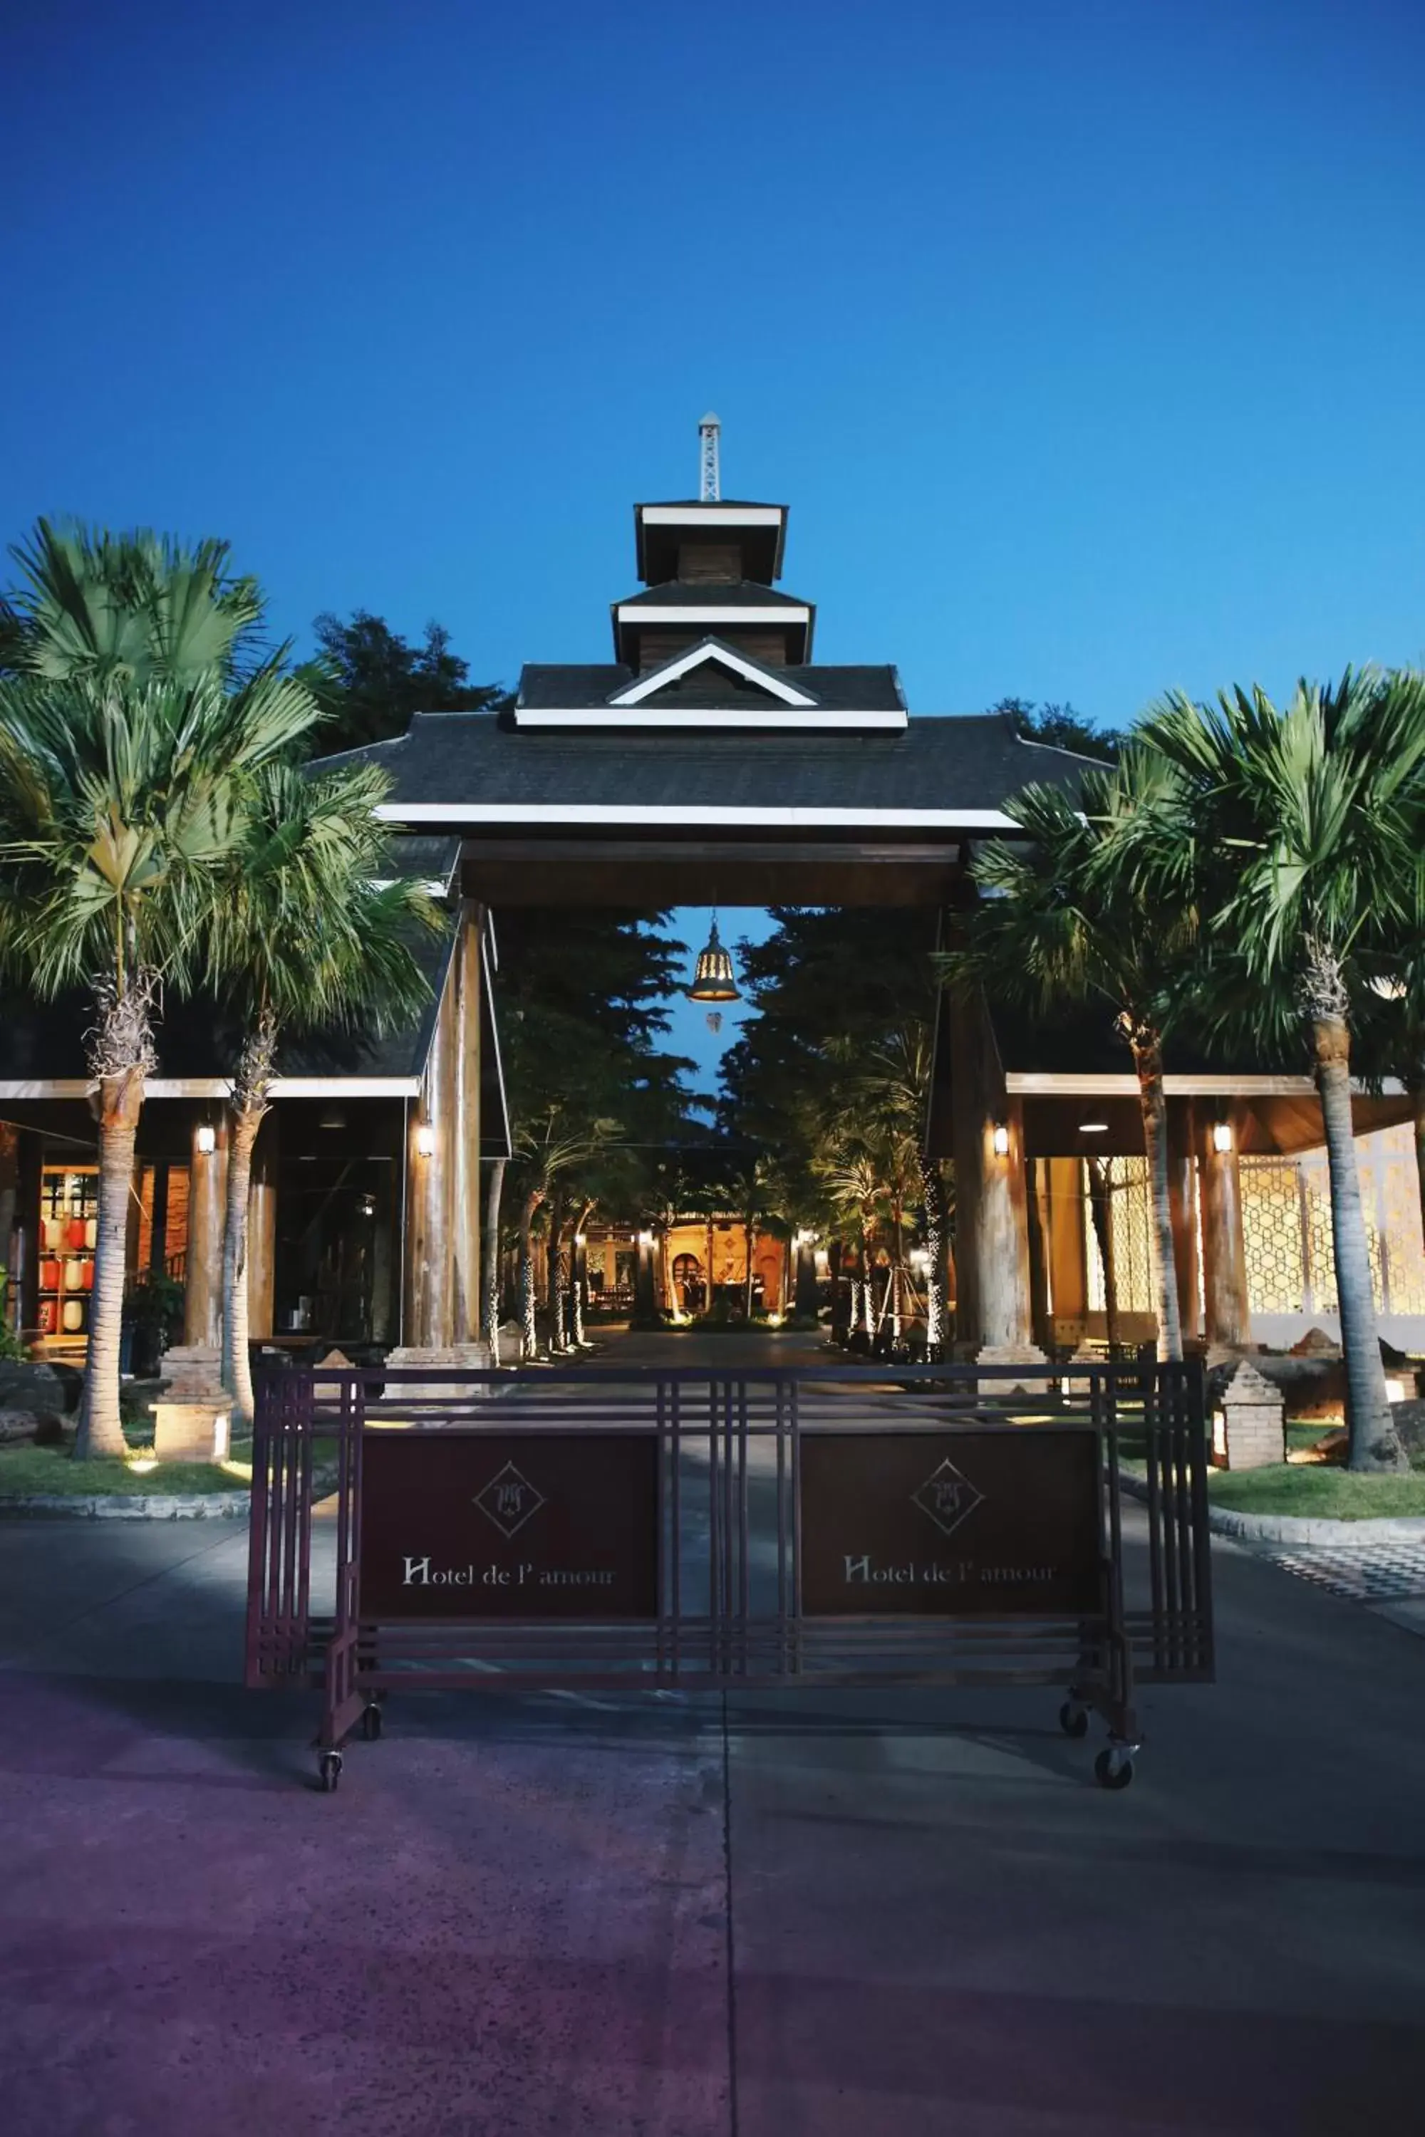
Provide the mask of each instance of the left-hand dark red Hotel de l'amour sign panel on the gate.
[{"label": "left-hand dark red Hotel de l'amour sign panel on the gate", "polygon": [[656,1618],[656,1434],[367,1432],[363,1618]]}]

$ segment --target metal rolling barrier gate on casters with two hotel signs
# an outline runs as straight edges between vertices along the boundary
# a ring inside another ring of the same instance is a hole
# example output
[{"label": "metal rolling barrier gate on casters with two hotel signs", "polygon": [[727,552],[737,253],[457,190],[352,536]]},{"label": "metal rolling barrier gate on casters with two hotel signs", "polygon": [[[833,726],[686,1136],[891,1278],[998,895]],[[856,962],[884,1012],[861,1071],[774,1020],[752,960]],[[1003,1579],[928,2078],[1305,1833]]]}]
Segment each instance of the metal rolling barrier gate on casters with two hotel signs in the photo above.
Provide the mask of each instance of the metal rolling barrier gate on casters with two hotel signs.
[{"label": "metal rolling barrier gate on casters with two hotel signs", "polygon": [[[1201,1366],[286,1370],[259,1383],[246,1682],[1062,1686],[1213,1675]],[[1124,1485],[1141,1507],[1124,1526]],[[1145,1530],[1145,1534],[1143,1534]]]}]

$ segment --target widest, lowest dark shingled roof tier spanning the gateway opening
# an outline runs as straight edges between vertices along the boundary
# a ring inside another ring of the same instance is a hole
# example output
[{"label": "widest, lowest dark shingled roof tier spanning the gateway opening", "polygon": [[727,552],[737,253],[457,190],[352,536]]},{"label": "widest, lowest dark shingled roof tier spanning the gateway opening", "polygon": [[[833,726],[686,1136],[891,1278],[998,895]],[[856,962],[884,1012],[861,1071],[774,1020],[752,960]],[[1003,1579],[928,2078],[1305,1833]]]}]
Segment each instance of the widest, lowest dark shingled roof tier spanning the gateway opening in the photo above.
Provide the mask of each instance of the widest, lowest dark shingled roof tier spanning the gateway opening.
[{"label": "widest, lowest dark shingled roof tier spanning the gateway opening", "polygon": [[[564,669],[526,673],[564,675]],[[611,675],[611,669],[575,669]],[[810,669],[808,675],[893,675]],[[547,699],[555,703],[555,699]],[[927,720],[899,733],[577,733],[511,729],[485,712],[417,714],[400,742],[361,752],[395,780],[391,804],[611,808],[998,810],[1030,780],[1077,786],[1090,759],[1023,742],[1002,714]]]}]

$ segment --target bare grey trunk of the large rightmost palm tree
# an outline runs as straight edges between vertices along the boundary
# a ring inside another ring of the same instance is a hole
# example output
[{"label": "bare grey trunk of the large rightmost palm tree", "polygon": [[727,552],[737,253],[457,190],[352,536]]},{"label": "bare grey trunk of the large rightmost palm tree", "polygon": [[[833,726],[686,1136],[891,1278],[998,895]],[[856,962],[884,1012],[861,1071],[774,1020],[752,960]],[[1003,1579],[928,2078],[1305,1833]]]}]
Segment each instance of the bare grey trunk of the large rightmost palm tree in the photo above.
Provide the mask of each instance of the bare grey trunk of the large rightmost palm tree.
[{"label": "bare grey trunk of the large rightmost palm tree", "polygon": [[[1312,972],[1312,998],[1318,998],[1318,994],[1331,996],[1329,977]],[[1318,985],[1320,981],[1327,981],[1327,985]],[[1340,992],[1344,994],[1344,989]],[[1401,1470],[1406,1468],[1406,1455],[1395,1436],[1380,1363],[1376,1293],[1372,1289],[1365,1212],[1361,1210],[1361,1173],[1357,1169],[1357,1137],[1350,1118],[1350,1030],[1342,1009],[1344,1004],[1331,998],[1329,1013],[1312,1017],[1312,1047],[1316,1054],[1316,1090],[1320,1092],[1320,1118],[1327,1130],[1327,1167],[1331,1175],[1335,1295],[1342,1310],[1342,1353],[1346,1359],[1348,1460],[1352,1470]]]}]

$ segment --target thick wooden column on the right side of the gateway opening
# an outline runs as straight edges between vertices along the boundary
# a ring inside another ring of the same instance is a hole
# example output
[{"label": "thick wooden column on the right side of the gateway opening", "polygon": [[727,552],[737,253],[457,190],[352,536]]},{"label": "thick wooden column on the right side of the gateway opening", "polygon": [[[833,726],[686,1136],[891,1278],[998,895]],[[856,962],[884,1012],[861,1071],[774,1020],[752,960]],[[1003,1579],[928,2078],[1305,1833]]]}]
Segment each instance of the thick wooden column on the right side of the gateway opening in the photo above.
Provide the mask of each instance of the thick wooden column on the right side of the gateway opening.
[{"label": "thick wooden column on the right side of the gateway opening", "polygon": [[[959,1340],[981,1357],[1038,1357],[1030,1316],[1023,1111],[1004,1090],[983,996],[959,996],[949,1024]],[[1004,1148],[998,1150],[996,1143]]]}]

